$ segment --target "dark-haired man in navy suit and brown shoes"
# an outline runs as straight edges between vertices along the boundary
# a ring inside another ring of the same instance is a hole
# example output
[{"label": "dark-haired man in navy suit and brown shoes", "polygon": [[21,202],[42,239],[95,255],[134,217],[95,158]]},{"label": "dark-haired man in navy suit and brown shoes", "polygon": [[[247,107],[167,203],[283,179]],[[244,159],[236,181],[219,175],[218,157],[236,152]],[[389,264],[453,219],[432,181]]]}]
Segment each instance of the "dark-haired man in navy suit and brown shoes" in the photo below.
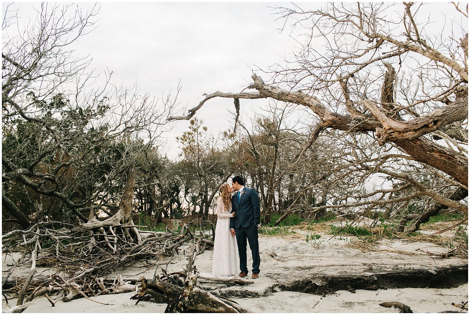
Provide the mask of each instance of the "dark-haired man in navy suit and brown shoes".
[{"label": "dark-haired man in navy suit and brown shoes", "polygon": [[248,275],[246,267],[246,240],[248,239],[253,257],[251,278],[256,279],[259,274],[259,199],[256,190],[246,188],[244,185],[243,178],[240,176],[232,178],[232,187],[235,192],[232,196],[232,212],[235,212],[235,218],[230,218],[230,233],[236,236],[242,278]]}]

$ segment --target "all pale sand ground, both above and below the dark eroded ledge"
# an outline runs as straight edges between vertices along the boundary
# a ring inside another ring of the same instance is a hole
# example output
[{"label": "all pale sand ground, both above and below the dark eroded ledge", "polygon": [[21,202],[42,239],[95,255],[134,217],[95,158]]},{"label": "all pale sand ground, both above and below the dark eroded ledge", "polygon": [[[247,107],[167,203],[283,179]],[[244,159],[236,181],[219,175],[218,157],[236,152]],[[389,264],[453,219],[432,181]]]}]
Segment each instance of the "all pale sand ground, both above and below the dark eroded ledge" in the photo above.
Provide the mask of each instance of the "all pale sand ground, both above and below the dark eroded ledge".
[{"label": "all pale sand ground, both above and below the dark eroded ledge", "polygon": [[[376,272],[404,269],[434,270],[436,267],[468,264],[467,258],[436,258],[426,254],[429,252],[445,252],[446,249],[431,243],[407,243],[399,240],[382,241],[381,251],[361,252],[346,247],[352,238],[333,238],[323,235],[316,241],[305,242],[305,232],[298,231],[290,237],[262,237],[259,240],[261,256],[261,272],[259,279],[249,285],[220,285],[203,281],[209,289],[217,289],[216,293],[226,293],[231,296],[256,296],[260,298],[235,299],[240,305],[257,313],[398,313],[397,309],[381,307],[384,301],[398,301],[411,307],[417,313],[437,313],[444,310],[459,310],[451,305],[468,300],[468,284],[453,289],[433,288],[404,288],[389,290],[356,290],[356,293],[337,291],[334,294],[321,297],[319,295],[280,291],[277,284],[286,283],[316,275],[371,275]],[[308,231],[310,233],[310,231]],[[274,258],[270,255],[275,253]],[[248,269],[250,269],[251,253],[248,253]],[[4,257],[5,259],[5,257]],[[196,267],[200,272],[211,272],[212,251],[206,250],[196,258]],[[5,261],[5,260],[3,260]],[[185,266],[184,255],[173,258],[168,270],[177,271]],[[2,270],[5,267],[2,264]],[[138,279],[141,275],[147,278],[153,276],[154,270],[144,268],[126,268],[121,271],[126,279]],[[110,276],[111,278],[113,275]],[[272,293],[277,290],[277,292]],[[129,299],[134,293],[119,295],[103,295],[92,299],[110,305],[98,304],[86,299],[62,302],[62,297],[56,299],[55,307],[44,297],[34,300],[34,305],[24,313],[162,313],[166,305],[140,301],[135,306],[135,300]],[[14,306],[15,300],[10,301]],[[2,309],[5,310],[3,299]]]}]

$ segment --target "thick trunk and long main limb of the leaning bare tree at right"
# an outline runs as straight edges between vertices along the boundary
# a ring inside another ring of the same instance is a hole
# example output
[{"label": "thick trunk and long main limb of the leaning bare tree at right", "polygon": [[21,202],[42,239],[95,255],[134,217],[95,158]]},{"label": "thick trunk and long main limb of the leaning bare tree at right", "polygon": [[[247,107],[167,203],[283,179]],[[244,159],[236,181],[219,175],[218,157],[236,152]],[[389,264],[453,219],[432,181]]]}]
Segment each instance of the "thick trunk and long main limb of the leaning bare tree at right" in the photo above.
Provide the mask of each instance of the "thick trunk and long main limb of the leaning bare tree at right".
[{"label": "thick trunk and long main limb of the leaning bare tree at right", "polygon": [[[196,107],[190,109],[187,116],[173,116],[168,118],[168,120],[190,119],[194,116],[196,111],[204,105],[205,101],[213,97],[239,99],[271,97],[282,102],[303,105],[310,108],[321,119],[319,124],[321,128],[316,130],[316,132],[320,132],[326,128],[344,131],[351,131],[352,129],[355,129],[356,131],[390,130],[392,133],[389,132],[389,134],[393,135],[393,137],[391,136],[390,139],[384,138],[384,141],[392,140],[416,161],[435,167],[436,169],[450,175],[463,186],[468,187],[468,160],[452,149],[434,144],[431,140],[420,137],[433,130],[439,129],[446,124],[465,118],[468,113],[468,90],[467,93],[464,91],[462,91],[462,93],[458,93],[455,102],[408,122],[395,121],[392,118],[386,117],[386,115],[380,111],[376,105],[373,105],[370,101],[364,101],[366,105],[369,104],[370,108],[372,108],[373,114],[375,113],[375,115],[381,118],[383,118],[382,116],[387,118],[387,125],[384,126],[381,123],[382,121],[377,121],[374,116],[364,116],[360,119],[358,119],[359,117],[356,117],[356,120],[353,121],[351,116],[331,112],[317,97],[306,94],[302,91],[284,90],[273,85],[265,84],[256,74],[253,74],[251,78],[253,79],[253,83],[247,88],[256,89],[258,92],[246,93],[242,91],[238,94],[215,92],[206,96]],[[374,109],[376,110],[374,111]],[[383,121],[385,121],[385,118],[383,118]],[[392,129],[394,127],[397,127],[398,129]],[[316,137],[314,138],[316,139]]]}]

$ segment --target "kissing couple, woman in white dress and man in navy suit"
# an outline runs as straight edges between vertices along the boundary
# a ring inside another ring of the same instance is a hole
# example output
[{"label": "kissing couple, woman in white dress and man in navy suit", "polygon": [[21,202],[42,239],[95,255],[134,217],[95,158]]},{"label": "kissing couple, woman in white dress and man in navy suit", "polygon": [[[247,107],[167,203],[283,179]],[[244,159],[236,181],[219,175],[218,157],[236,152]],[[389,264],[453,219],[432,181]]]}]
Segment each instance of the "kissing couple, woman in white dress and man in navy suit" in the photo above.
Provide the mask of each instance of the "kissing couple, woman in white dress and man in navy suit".
[{"label": "kissing couple, woman in white dress and man in navy suit", "polygon": [[[259,198],[256,190],[245,187],[242,177],[232,178],[232,185],[219,187],[217,224],[212,259],[212,275],[240,277],[248,275],[246,242],[253,258],[251,278],[259,275]],[[238,269],[240,267],[240,269]]]}]

